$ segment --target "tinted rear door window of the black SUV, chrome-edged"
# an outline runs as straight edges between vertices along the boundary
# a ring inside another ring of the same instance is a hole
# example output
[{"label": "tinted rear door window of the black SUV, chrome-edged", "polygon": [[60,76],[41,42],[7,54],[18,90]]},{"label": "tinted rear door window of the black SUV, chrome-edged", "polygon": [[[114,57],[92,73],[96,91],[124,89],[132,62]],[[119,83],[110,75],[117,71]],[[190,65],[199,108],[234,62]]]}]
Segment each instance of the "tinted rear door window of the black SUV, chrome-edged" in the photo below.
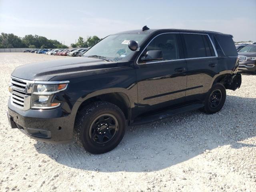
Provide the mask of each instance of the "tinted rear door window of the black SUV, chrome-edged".
[{"label": "tinted rear door window of the black SUV, chrome-edged", "polygon": [[215,56],[214,48],[207,35],[183,34],[187,56],[186,58],[200,58]]}]

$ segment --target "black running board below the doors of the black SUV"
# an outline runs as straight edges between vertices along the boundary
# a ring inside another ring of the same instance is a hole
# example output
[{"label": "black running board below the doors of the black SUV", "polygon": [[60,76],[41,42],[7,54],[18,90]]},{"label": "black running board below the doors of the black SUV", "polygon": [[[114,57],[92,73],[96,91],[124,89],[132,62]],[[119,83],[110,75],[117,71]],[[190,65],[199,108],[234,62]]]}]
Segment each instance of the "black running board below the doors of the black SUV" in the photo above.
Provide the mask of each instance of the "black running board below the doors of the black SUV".
[{"label": "black running board below the doors of the black SUV", "polygon": [[141,125],[141,124],[145,124],[145,123],[152,123],[152,122],[155,122],[155,121],[158,121],[158,120],[161,120],[161,119],[164,119],[164,118],[168,118],[168,117],[171,117],[171,116],[174,116],[174,115],[178,115],[178,114],[181,114],[181,113],[184,113],[184,112],[197,110],[197,109],[200,109],[202,107],[204,107],[204,104],[195,103],[195,104],[190,104],[190,105],[183,106],[183,107],[180,107],[180,108],[166,110],[166,111],[156,113],[156,114],[153,114],[153,115],[150,115],[150,116],[146,116],[146,117],[143,117],[143,118],[136,118],[134,120],[134,122],[131,124],[131,126]]}]

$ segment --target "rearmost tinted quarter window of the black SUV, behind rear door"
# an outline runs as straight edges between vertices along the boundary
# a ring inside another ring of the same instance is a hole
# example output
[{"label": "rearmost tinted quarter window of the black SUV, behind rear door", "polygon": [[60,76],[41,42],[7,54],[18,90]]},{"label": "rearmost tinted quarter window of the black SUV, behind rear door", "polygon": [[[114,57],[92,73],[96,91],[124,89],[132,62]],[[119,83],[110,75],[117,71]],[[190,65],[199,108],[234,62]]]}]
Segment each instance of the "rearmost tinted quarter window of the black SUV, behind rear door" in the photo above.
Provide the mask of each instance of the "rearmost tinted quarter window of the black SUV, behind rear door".
[{"label": "rearmost tinted quarter window of the black SUV, behind rear door", "polygon": [[219,42],[224,54],[226,56],[237,56],[236,46],[231,36],[219,36],[216,35],[215,38]]}]

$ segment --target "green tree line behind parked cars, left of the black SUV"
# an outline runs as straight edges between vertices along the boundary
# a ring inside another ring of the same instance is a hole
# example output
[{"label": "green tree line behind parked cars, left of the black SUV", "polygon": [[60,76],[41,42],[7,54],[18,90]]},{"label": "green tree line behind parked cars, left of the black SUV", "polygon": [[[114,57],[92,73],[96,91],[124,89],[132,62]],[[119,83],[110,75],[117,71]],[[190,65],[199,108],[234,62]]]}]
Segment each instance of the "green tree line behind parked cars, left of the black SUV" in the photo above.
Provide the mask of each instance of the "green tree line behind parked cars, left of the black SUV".
[{"label": "green tree line behind parked cars, left of the black SUV", "polygon": [[[97,36],[89,36],[86,40],[79,37],[76,44],[71,44],[73,48],[76,47],[91,47],[101,39]],[[58,40],[47,39],[38,35],[25,35],[18,37],[12,33],[0,34],[0,48],[68,48],[68,46],[61,44]]]}]

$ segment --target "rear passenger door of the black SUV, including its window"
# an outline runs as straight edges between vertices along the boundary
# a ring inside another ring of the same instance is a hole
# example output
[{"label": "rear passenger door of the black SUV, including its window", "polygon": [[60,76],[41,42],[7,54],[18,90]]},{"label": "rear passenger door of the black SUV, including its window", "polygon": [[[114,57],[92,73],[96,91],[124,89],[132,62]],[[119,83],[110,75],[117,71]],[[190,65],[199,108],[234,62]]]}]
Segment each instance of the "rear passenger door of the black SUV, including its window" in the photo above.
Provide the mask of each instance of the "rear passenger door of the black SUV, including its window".
[{"label": "rear passenger door of the black SUV, including its window", "polygon": [[218,74],[218,55],[208,34],[182,33],[188,66],[186,102],[204,100]]}]

